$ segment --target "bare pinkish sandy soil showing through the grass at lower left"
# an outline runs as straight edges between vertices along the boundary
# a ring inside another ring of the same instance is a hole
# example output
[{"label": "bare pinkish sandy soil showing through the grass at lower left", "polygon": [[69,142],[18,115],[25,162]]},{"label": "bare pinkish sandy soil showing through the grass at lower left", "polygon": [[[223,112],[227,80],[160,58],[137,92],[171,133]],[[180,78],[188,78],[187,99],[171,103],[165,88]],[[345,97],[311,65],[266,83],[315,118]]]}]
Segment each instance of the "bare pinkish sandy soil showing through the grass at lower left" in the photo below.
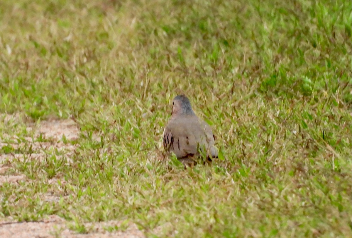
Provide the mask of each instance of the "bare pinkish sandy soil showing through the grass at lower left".
[{"label": "bare pinkish sandy soil showing through the grass at lower left", "polygon": [[[15,120],[16,115],[6,115],[5,121]],[[68,158],[70,154],[75,150],[74,145],[66,145],[62,140],[62,136],[65,135],[67,140],[75,140],[78,138],[78,127],[72,120],[49,120],[42,121],[38,125],[29,124],[27,131],[33,130],[34,137],[39,137],[40,134],[44,138],[51,138],[52,141],[58,141],[57,143],[52,142],[34,142],[32,148],[34,150],[63,150],[65,156]],[[6,135],[3,135],[6,137]],[[15,138],[12,138],[15,139]],[[26,138],[27,141],[32,141],[32,138]],[[24,143],[11,144],[13,148],[21,147]],[[6,145],[0,139],[0,147]],[[44,152],[31,154],[33,159],[43,159]],[[23,159],[23,154],[2,154],[0,155],[0,186],[5,182],[18,183],[19,181],[27,180],[24,174],[11,174],[7,173],[11,169],[11,161],[13,159]],[[49,196],[49,195],[48,195]],[[50,197],[50,196],[49,196]],[[48,198],[50,199],[50,198]],[[7,220],[0,219],[0,238],[12,238],[12,237],[118,237],[118,238],[139,238],[145,237],[143,232],[138,230],[137,226],[133,223],[128,224],[128,228],[124,231],[113,231],[107,232],[104,227],[107,226],[119,226],[122,221],[109,221],[99,223],[86,223],[86,227],[91,227],[87,234],[77,234],[75,231],[69,229],[69,224],[64,219],[52,215],[45,218],[42,222],[17,222],[11,218]]]}]

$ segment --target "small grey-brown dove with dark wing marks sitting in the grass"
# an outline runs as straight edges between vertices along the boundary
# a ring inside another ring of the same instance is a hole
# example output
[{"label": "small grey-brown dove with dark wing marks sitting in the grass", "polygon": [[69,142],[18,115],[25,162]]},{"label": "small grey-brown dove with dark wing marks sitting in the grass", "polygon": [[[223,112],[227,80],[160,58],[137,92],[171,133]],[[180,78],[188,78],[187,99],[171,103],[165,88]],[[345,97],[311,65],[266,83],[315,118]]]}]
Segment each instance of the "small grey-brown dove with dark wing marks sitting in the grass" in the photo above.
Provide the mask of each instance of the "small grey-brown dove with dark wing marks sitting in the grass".
[{"label": "small grey-brown dove with dark wing marks sitting in the grass", "polygon": [[214,144],[215,137],[210,126],[197,117],[185,95],[177,95],[172,101],[171,119],[164,128],[165,151],[168,154],[174,152],[185,166],[195,165],[197,159],[205,155],[209,162],[218,158]]}]

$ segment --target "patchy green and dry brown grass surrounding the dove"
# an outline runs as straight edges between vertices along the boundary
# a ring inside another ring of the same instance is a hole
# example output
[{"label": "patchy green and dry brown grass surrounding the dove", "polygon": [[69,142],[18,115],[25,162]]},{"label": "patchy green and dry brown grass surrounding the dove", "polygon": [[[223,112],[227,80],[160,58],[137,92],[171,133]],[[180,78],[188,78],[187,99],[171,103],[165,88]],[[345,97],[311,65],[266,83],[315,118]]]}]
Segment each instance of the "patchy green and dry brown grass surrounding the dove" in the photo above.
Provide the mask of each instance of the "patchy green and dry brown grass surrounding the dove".
[{"label": "patchy green and dry brown grass surrounding the dove", "polygon": [[[35,153],[33,121],[71,116],[80,135],[62,138],[71,156],[3,161],[27,180],[0,186],[0,219],[352,236],[351,1],[15,2],[0,4],[0,111],[20,119],[0,121],[1,153]],[[163,159],[182,92],[212,124],[224,155],[212,166]]]}]

